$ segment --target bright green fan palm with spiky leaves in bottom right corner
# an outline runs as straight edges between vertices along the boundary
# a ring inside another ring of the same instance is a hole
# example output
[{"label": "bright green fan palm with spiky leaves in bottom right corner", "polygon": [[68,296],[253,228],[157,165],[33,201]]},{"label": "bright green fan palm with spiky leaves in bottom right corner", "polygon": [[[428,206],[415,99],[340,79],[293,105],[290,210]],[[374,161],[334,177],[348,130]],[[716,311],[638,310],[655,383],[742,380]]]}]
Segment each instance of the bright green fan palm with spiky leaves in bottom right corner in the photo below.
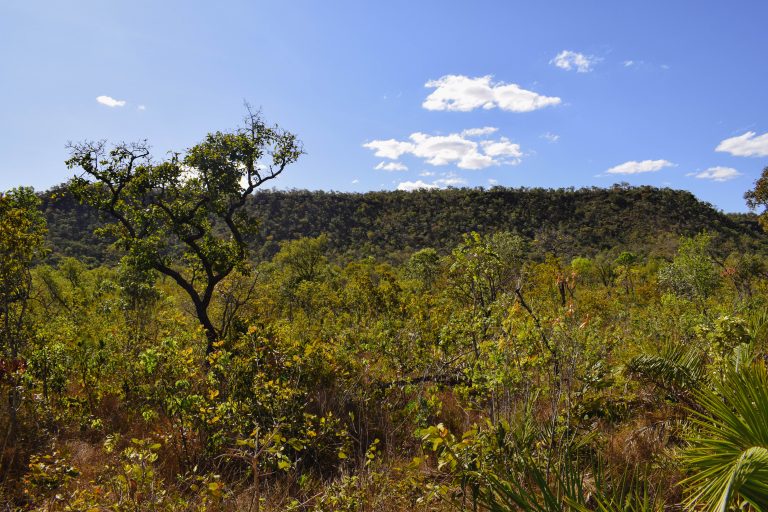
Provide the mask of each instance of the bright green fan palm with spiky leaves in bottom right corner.
[{"label": "bright green fan palm with spiky leaves in bottom right corner", "polygon": [[768,372],[763,364],[730,369],[713,389],[696,393],[702,412],[683,462],[691,508],[727,511],[748,503],[768,510]]}]

